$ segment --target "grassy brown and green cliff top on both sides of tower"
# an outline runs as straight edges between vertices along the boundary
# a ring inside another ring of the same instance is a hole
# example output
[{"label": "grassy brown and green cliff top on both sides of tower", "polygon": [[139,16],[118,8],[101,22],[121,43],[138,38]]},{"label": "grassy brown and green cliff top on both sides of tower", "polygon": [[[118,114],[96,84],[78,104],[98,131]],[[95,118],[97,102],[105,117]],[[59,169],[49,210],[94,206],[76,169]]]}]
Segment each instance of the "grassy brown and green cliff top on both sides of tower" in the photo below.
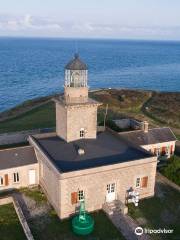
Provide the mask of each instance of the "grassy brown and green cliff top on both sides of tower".
[{"label": "grassy brown and green cliff top on both sides of tower", "polygon": [[[99,123],[103,121],[108,104],[108,119],[148,120],[153,127],[170,126],[180,136],[180,93],[108,89],[89,95],[103,103],[98,110]],[[51,97],[27,101],[0,113],[0,133],[54,127],[55,106]]]}]

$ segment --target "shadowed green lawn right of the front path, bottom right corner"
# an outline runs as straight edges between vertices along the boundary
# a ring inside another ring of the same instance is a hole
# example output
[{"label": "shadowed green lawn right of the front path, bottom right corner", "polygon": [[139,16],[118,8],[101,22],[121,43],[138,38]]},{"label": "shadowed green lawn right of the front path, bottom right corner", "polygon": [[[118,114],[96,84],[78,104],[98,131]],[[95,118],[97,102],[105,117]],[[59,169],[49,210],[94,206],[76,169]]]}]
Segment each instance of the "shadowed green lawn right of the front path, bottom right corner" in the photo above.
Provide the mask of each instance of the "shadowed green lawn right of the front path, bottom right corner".
[{"label": "shadowed green lawn right of the front path, bottom right corner", "polygon": [[129,204],[129,215],[137,221],[140,218],[146,219],[144,224],[139,224],[142,227],[174,229],[174,233],[170,235],[153,234],[153,239],[179,239],[180,193],[160,183],[158,188],[161,191],[161,196],[157,195],[153,198],[141,200],[138,207]]}]

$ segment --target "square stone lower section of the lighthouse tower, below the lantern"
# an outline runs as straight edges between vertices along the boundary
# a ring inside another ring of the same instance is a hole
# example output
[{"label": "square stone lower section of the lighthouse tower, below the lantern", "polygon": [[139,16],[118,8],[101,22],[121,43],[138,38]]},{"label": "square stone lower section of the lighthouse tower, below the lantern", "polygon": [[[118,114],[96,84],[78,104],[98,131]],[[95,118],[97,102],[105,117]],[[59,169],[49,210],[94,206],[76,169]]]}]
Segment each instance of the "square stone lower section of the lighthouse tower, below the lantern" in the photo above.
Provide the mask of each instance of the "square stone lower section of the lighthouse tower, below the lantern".
[{"label": "square stone lower section of the lighthouse tower, below the lantern", "polygon": [[97,104],[63,106],[56,103],[56,132],[67,142],[80,139],[80,130],[85,138],[96,138]]}]

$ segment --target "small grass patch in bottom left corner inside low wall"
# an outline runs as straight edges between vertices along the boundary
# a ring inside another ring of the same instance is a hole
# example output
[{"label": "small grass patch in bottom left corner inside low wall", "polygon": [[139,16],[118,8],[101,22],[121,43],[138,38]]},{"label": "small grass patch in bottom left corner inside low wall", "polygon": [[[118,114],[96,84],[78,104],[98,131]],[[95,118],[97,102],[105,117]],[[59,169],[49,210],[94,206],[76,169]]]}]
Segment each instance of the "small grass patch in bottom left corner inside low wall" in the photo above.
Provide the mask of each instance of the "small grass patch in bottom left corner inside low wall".
[{"label": "small grass patch in bottom left corner inside low wall", "polygon": [[26,240],[13,204],[0,206],[0,239]]}]

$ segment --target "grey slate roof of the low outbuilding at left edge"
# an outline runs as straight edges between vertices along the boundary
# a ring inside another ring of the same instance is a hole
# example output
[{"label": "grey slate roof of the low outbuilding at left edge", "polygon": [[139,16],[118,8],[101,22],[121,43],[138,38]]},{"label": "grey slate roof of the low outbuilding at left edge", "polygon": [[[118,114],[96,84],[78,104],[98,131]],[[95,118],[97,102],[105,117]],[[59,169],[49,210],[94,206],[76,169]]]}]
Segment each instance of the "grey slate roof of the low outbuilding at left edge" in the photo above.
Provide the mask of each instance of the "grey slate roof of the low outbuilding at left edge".
[{"label": "grey slate roof of the low outbuilding at left edge", "polygon": [[18,147],[0,151],[0,170],[37,163],[34,148]]}]

